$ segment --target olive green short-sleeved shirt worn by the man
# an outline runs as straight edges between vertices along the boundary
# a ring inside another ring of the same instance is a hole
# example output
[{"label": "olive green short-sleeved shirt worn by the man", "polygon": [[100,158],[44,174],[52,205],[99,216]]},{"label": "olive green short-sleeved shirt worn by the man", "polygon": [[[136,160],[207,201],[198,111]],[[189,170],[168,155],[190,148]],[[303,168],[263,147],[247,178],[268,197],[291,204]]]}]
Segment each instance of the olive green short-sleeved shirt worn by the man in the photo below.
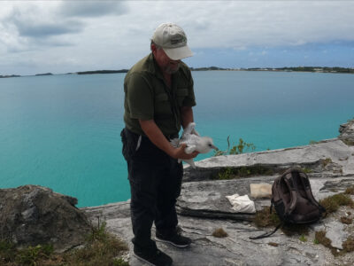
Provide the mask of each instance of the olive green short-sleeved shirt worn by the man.
[{"label": "olive green short-sleeved shirt worn by the man", "polygon": [[169,136],[181,129],[181,107],[196,106],[189,67],[181,63],[168,88],[152,53],[127,72],[124,92],[126,127],[142,136],[145,134],[139,119],[154,120],[162,133]]}]

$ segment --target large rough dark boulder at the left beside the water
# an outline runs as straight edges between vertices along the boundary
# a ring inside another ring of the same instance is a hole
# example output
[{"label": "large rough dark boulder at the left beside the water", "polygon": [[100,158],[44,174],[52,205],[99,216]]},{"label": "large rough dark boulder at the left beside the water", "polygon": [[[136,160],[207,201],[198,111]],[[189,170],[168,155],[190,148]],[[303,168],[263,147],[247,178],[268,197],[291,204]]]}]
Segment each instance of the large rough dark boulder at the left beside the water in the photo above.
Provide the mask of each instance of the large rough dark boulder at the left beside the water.
[{"label": "large rough dark boulder at the left beside the water", "polygon": [[25,185],[0,190],[0,236],[17,246],[51,243],[58,251],[81,245],[90,225],[75,198]]}]

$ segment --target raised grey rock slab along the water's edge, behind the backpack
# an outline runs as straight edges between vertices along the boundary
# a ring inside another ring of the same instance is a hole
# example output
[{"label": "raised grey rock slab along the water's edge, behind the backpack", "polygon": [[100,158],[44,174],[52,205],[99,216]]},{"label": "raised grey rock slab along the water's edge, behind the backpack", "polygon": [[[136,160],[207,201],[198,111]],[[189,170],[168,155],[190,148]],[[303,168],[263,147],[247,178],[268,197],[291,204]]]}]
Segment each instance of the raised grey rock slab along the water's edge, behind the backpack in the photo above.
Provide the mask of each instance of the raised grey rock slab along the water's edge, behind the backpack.
[{"label": "raised grey rock slab along the water's edge, behind the backpack", "polygon": [[[330,159],[328,165],[323,160]],[[313,168],[318,176],[354,175],[354,147],[345,145],[338,138],[316,145],[305,145],[259,153],[224,155],[196,161],[196,169],[185,166],[186,181],[210,179],[220,168],[267,166],[281,171],[291,167]]]}]

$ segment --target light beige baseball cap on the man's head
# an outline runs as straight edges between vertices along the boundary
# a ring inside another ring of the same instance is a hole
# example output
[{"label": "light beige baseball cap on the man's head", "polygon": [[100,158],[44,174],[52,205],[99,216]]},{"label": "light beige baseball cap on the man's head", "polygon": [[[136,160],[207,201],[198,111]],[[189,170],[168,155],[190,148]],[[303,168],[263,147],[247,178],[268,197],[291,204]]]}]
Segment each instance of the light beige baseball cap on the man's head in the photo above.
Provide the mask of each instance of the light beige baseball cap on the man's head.
[{"label": "light beige baseball cap on the man's head", "polygon": [[181,60],[193,55],[187,45],[186,34],[174,23],[162,23],[156,28],[151,40],[161,46],[170,59]]}]

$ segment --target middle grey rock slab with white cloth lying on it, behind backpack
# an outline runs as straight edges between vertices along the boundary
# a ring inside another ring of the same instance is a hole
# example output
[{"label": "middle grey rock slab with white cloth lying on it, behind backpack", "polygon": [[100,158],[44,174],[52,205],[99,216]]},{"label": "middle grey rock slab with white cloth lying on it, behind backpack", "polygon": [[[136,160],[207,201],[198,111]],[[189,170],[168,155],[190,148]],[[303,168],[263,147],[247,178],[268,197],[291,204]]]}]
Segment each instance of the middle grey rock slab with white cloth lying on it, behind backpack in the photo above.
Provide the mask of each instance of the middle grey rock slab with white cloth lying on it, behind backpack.
[{"label": "middle grey rock slab with white cloth lying on it, behind backpack", "polygon": [[[177,201],[177,211],[181,215],[192,215],[205,218],[223,218],[231,220],[250,221],[252,214],[237,213],[226,196],[235,193],[249,195],[250,184],[273,184],[276,176],[258,176],[233,180],[187,182],[182,184],[181,196]],[[310,178],[312,193],[317,200],[326,198],[338,192],[343,192],[354,178]],[[334,191],[334,188],[335,191]],[[270,199],[252,199],[257,210],[271,205]]]}]

